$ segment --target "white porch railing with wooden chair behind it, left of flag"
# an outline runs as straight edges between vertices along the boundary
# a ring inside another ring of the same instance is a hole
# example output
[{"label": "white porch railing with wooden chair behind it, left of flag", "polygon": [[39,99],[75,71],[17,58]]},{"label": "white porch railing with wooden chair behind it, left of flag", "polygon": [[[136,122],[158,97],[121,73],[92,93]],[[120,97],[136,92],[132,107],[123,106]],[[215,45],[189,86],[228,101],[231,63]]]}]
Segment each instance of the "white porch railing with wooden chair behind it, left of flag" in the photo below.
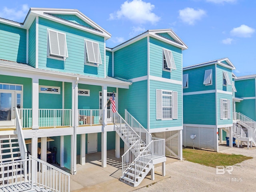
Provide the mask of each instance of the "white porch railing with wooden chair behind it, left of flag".
[{"label": "white porch railing with wooden chair behind it, left of flag", "polygon": [[78,109],[78,125],[101,125],[102,109]]}]

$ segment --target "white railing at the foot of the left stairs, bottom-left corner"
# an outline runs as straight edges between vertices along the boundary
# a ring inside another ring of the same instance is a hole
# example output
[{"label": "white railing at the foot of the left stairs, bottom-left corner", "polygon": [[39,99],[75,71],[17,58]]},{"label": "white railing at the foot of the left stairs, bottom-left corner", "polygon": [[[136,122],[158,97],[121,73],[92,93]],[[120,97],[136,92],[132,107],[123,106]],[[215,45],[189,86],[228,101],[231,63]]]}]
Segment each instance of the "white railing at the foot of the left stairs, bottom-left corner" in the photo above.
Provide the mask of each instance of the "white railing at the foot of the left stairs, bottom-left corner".
[{"label": "white railing at the foot of the left stairs, bottom-left corner", "polygon": [[[33,162],[33,163],[32,163]],[[36,167],[32,169],[32,164]],[[36,173],[32,173],[32,170]],[[28,159],[0,163],[0,191],[21,192],[38,189],[69,192],[70,174],[29,155]]]}]

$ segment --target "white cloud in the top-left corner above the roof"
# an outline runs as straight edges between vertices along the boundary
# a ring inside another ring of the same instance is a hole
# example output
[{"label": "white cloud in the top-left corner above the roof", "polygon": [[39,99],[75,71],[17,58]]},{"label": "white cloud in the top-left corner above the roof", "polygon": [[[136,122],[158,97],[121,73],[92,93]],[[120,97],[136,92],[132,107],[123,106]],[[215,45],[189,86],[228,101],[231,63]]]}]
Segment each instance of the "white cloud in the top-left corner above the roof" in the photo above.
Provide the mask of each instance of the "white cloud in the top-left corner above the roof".
[{"label": "white cloud in the top-left corner above the roof", "polygon": [[4,7],[2,10],[0,10],[0,17],[14,20],[18,22],[24,21],[26,14],[28,13],[29,7],[27,4],[23,4],[21,6],[21,9],[17,8],[7,8]]}]

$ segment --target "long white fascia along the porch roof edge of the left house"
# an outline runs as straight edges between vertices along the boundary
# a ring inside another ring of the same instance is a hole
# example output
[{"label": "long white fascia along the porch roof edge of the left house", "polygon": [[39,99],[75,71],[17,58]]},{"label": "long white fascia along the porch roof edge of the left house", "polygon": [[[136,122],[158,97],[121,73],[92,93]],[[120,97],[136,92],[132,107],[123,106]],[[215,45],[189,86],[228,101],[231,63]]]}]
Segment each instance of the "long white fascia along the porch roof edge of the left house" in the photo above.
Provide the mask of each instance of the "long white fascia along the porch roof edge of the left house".
[{"label": "long white fascia along the porch roof edge of the left house", "polygon": [[[132,82],[119,82],[110,79],[96,78],[90,76],[83,76],[79,74],[68,74],[63,72],[56,71],[48,71],[42,69],[31,69],[31,68],[22,68],[18,66],[8,66],[5,64],[0,64],[0,74],[2,75],[10,75],[10,76],[22,76],[27,78],[41,78],[46,79],[50,78],[51,80],[57,81],[65,81],[65,82],[73,82],[77,77],[79,78],[79,83],[83,82],[84,84],[92,84],[98,86],[116,86],[118,88],[126,88],[128,89]],[[16,72],[16,74],[14,74]]]}]

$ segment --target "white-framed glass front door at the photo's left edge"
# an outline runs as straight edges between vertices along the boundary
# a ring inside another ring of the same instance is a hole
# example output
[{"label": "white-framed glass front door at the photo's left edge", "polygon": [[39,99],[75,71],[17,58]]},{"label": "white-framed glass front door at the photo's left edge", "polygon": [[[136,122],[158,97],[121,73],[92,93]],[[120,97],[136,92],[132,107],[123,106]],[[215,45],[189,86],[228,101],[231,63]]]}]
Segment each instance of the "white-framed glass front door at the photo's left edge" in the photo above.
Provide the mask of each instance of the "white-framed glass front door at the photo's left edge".
[{"label": "white-framed glass front door at the photo's left edge", "polygon": [[0,126],[14,126],[15,91],[0,91]]}]

